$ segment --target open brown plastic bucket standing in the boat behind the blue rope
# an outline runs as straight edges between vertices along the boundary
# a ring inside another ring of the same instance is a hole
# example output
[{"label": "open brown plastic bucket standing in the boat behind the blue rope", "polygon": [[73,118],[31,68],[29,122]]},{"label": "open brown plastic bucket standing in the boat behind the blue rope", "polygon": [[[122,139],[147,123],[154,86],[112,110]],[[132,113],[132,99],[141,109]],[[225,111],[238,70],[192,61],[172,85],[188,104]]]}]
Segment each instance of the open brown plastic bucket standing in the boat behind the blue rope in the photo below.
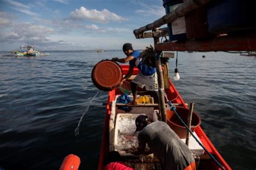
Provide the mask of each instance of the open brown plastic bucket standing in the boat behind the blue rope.
[{"label": "open brown plastic bucket standing in the boat behind the blue rope", "polygon": [[[187,124],[187,116],[190,110],[185,107],[176,107],[176,112],[179,114],[181,119]],[[186,138],[187,129],[181,123],[177,115],[170,110],[166,110],[166,119],[167,124],[172,128],[172,130],[181,138]],[[192,121],[191,121],[191,130],[193,131],[201,124],[201,118],[195,112],[192,113]]]}]

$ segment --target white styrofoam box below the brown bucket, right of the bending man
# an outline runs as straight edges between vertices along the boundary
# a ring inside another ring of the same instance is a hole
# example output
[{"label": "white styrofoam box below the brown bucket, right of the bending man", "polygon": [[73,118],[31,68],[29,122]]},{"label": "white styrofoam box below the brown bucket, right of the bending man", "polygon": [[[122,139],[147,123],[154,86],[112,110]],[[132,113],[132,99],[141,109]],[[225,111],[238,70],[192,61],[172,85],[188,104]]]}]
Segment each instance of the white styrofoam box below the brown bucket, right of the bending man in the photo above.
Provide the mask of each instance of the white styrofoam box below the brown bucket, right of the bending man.
[{"label": "white styrofoam box below the brown bucket, right of the bending man", "polygon": [[[198,135],[196,134],[196,132],[193,132],[193,135],[196,136],[196,138],[201,142],[201,140],[198,138]],[[181,139],[184,143],[186,142],[186,139]],[[196,141],[196,139],[194,139],[192,137],[192,135],[190,135],[190,140],[188,142],[188,148],[190,148],[190,151],[193,154],[196,154],[198,156],[203,155],[205,150],[203,149],[203,147],[201,147],[198,142]]]}]

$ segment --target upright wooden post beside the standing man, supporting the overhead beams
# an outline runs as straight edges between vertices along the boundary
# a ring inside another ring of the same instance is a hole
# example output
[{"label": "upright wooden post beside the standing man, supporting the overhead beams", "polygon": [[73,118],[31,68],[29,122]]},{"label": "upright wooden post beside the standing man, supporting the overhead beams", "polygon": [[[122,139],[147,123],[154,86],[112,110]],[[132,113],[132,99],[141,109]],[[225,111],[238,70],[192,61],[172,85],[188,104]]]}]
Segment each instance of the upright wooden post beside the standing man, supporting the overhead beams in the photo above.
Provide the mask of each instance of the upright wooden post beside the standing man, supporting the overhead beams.
[{"label": "upright wooden post beside the standing man, supporting the overhead beams", "polygon": [[[157,32],[158,29],[154,30]],[[159,38],[154,37],[154,46],[159,43]],[[156,60],[156,68],[157,68],[157,81],[158,81],[158,96],[159,96],[159,113],[161,115],[161,121],[166,123],[166,110],[165,110],[165,99],[164,99],[164,78],[163,78],[163,71],[161,68],[161,60],[160,57]]]}]

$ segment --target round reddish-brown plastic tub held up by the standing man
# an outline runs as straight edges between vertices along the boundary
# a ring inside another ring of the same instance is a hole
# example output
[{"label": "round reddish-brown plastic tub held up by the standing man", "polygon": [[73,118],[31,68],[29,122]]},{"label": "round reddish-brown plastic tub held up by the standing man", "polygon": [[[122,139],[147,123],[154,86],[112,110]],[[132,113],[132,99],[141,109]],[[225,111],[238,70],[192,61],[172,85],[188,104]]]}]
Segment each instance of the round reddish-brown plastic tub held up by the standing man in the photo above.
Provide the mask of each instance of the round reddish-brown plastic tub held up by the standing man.
[{"label": "round reddish-brown plastic tub held up by the standing man", "polygon": [[92,82],[103,91],[111,91],[123,79],[123,72],[119,64],[111,60],[103,60],[92,69]]}]

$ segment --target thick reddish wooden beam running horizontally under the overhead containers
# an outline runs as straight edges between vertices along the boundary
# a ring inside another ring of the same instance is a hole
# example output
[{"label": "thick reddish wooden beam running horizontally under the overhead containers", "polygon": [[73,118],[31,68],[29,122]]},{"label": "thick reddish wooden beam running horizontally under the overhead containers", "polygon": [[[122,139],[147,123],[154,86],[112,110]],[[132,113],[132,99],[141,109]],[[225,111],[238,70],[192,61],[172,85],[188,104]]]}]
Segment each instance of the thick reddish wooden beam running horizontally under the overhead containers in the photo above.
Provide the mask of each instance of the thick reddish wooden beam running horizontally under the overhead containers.
[{"label": "thick reddish wooden beam running horizontally under the overhead containers", "polygon": [[155,48],[157,51],[256,51],[256,33],[158,43]]}]

